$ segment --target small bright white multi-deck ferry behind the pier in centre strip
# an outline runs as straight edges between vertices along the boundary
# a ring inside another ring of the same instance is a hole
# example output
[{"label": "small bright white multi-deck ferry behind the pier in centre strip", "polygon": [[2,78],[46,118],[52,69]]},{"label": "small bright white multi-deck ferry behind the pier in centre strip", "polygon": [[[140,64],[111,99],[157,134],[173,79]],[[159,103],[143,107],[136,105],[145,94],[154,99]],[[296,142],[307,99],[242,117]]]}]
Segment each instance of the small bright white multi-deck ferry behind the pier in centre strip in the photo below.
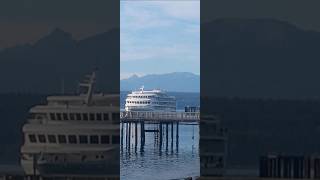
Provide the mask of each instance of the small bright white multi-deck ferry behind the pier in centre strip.
[{"label": "small bright white multi-deck ferry behind the pier in centre strip", "polygon": [[175,112],[176,109],[175,97],[168,96],[164,91],[158,89],[146,91],[144,87],[128,94],[125,104],[126,111]]}]

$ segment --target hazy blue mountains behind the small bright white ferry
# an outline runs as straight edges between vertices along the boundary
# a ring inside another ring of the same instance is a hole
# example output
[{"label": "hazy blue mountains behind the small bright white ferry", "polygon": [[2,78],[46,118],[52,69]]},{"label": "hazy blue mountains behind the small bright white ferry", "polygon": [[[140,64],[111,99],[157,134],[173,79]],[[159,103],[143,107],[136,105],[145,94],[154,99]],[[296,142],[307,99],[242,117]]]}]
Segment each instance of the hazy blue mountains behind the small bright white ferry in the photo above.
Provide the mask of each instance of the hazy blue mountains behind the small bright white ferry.
[{"label": "hazy blue mountains behind the small bright white ferry", "polygon": [[189,72],[167,74],[133,75],[120,81],[121,91],[131,91],[144,86],[145,89],[163,89],[171,92],[200,92],[200,76]]}]

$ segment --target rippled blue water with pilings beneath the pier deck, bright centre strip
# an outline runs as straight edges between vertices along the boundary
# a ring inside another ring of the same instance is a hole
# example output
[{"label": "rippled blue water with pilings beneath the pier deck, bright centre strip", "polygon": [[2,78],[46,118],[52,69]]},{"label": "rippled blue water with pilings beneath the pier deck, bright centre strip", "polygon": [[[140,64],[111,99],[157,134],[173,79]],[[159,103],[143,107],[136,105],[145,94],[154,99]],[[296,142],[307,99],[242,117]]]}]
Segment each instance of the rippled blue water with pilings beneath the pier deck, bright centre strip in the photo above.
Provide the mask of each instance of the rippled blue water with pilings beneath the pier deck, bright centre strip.
[{"label": "rippled blue water with pilings beneath the pier deck, bright centre strip", "polygon": [[122,123],[120,143],[121,179],[174,179],[200,174],[198,124]]}]

